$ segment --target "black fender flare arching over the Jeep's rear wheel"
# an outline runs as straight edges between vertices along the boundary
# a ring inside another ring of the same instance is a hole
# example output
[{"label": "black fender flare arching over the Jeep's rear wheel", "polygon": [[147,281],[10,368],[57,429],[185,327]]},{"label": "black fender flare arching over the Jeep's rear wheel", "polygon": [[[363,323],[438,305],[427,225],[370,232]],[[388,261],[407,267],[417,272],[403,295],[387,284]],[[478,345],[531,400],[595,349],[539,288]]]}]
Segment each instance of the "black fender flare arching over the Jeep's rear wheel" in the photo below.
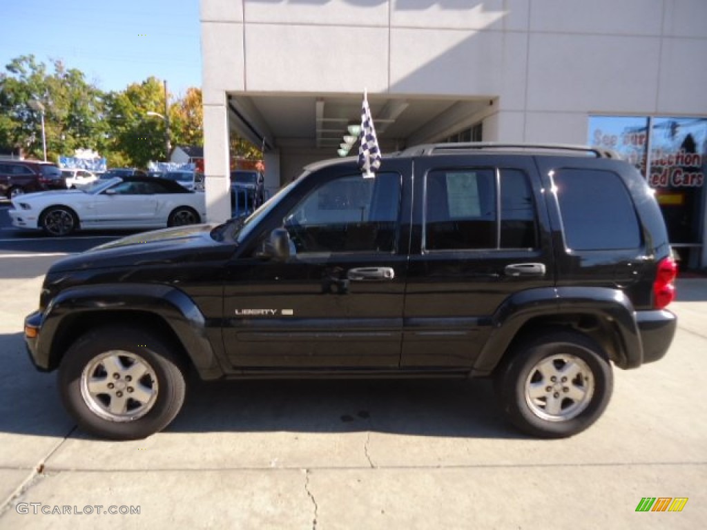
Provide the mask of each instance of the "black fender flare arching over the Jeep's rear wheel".
[{"label": "black fender flare arching over the Jeep's rear wheel", "polygon": [[562,324],[567,315],[610,322],[619,340],[617,366],[638,367],[643,362],[643,345],[634,313],[629,298],[617,289],[558,287],[520,291],[505,300],[491,316],[492,331],[474,363],[472,375],[489,375],[518,332],[532,319],[539,319],[541,326]]}]

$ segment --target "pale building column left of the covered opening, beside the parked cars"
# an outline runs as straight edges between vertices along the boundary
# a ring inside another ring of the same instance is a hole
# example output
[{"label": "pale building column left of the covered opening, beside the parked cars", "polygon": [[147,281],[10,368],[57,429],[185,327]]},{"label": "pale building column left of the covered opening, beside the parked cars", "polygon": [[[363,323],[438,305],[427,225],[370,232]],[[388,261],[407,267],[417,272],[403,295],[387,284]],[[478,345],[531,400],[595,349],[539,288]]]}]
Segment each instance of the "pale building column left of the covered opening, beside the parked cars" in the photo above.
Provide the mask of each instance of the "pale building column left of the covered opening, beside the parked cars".
[{"label": "pale building column left of the covered opening, beside the parked cars", "polygon": [[204,175],[209,223],[230,219],[230,153],[226,93],[219,103],[204,103]]}]

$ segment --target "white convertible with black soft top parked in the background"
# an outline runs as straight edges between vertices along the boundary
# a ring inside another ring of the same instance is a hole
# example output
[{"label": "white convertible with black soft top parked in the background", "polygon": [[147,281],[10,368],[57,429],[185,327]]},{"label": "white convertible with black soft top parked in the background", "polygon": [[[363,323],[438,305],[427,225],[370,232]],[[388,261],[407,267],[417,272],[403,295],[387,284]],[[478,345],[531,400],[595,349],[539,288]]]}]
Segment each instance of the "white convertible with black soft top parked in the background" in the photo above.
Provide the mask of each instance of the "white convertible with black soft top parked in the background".
[{"label": "white convertible with black soft top parked in the background", "polygon": [[12,205],[13,226],[54,236],[78,229],[192,225],[206,219],[203,193],[154,177],[114,177],[82,189],[25,194]]}]

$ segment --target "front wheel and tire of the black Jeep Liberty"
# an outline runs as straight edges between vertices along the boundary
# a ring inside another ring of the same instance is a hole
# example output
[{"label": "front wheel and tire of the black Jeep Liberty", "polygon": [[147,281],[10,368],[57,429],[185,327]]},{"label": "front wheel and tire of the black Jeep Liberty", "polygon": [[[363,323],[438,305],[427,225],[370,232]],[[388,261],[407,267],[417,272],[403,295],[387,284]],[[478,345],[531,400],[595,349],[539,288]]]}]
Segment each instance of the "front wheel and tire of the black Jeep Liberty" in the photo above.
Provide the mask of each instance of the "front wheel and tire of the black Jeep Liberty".
[{"label": "front wheel and tire of the black Jeep Liberty", "polygon": [[[137,377],[142,369],[144,375]],[[112,389],[92,387],[104,381]],[[81,336],[66,351],[59,365],[59,392],[82,430],[111,440],[138,440],[163,430],[177,416],[186,394],[185,372],[160,336],[105,326]],[[113,411],[113,404],[124,404],[122,411]]]}]

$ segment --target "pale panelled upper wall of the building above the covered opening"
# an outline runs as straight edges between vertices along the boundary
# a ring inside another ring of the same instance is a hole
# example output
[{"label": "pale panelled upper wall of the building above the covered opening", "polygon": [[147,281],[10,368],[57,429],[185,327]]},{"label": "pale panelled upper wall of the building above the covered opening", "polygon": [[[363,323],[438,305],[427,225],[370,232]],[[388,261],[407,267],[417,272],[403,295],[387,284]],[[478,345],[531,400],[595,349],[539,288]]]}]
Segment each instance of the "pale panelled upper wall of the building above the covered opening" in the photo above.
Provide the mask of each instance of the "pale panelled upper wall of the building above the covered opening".
[{"label": "pale panelled upper wall of the building above the covered opening", "polygon": [[205,107],[228,90],[481,96],[498,102],[484,139],[564,143],[590,114],[707,114],[707,0],[201,0],[201,19]]}]

